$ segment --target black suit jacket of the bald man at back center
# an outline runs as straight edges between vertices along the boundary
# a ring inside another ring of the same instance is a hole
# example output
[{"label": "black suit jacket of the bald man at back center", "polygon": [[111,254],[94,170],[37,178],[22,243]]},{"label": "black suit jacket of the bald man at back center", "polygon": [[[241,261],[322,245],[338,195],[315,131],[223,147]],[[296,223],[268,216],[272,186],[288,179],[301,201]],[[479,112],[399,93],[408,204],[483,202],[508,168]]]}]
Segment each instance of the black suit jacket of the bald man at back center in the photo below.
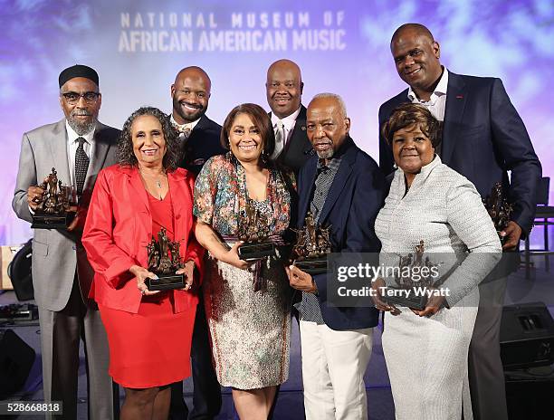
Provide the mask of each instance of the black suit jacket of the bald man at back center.
[{"label": "black suit jacket of the bald man at back center", "polygon": [[[271,112],[268,115],[270,118],[272,117]],[[301,167],[312,154],[313,148],[311,148],[310,140],[306,134],[306,107],[301,105],[301,111],[296,118],[291,137],[281,155],[277,157],[277,163],[283,167],[288,167],[294,172],[295,176],[298,176]]]}]

